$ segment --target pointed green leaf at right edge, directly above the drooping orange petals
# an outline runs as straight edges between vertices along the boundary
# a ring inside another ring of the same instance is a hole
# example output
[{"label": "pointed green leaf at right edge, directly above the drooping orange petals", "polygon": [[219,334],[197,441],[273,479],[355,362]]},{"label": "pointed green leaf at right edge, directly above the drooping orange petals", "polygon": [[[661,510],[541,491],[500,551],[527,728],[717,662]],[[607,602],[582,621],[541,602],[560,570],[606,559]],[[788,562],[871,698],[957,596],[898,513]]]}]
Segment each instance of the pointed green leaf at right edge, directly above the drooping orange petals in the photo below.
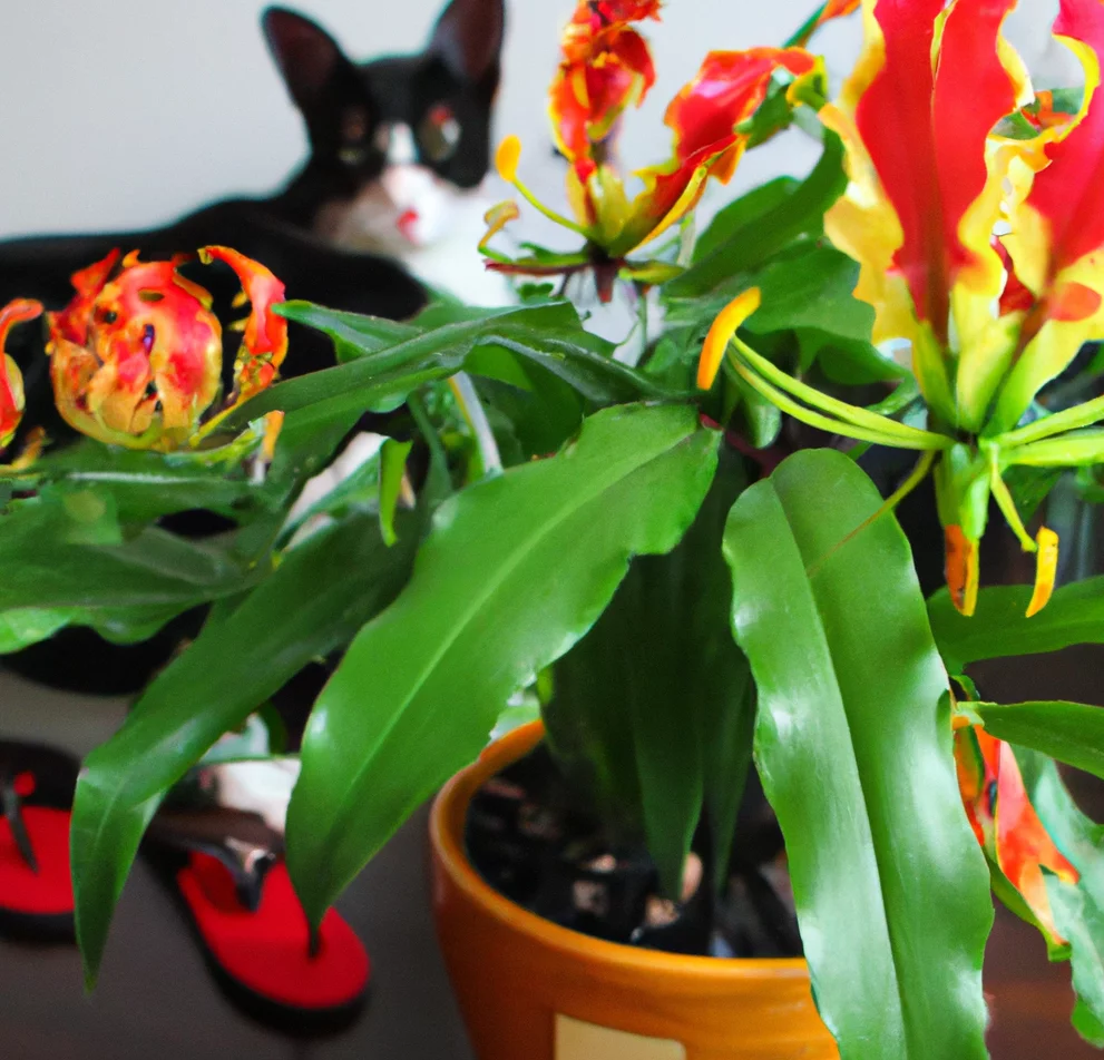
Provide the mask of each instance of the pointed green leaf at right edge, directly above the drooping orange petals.
[{"label": "pointed green leaf at right edge, directly above the drooping orange petals", "polygon": [[988,733],[1104,777],[1104,707],[1084,703],[970,704]]}]

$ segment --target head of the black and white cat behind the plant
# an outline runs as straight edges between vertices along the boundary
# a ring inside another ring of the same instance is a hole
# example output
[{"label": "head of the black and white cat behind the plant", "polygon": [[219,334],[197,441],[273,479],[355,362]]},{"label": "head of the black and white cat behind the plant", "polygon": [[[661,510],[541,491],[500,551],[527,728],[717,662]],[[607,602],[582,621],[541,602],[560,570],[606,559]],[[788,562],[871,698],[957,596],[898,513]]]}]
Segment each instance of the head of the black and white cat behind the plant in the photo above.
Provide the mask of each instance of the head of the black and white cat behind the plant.
[{"label": "head of the black and white cat behind the plant", "polygon": [[401,262],[466,302],[501,304],[477,244],[500,77],[504,0],[452,0],[427,49],[358,65],[310,19],[282,8],[263,26],[311,158],[271,203],[275,216],[346,251]]}]

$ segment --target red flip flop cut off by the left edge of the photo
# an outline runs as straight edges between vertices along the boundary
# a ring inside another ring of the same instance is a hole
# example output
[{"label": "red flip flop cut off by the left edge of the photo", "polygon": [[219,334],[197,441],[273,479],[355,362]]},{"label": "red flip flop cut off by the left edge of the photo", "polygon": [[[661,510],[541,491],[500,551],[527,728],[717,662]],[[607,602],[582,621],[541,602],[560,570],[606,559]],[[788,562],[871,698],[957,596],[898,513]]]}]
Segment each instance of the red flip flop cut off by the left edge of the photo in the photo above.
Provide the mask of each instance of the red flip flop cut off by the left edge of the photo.
[{"label": "red flip flop cut off by the left edge of the photo", "polygon": [[74,940],[69,823],[78,772],[59,750],[0,740],[0,933]]}]

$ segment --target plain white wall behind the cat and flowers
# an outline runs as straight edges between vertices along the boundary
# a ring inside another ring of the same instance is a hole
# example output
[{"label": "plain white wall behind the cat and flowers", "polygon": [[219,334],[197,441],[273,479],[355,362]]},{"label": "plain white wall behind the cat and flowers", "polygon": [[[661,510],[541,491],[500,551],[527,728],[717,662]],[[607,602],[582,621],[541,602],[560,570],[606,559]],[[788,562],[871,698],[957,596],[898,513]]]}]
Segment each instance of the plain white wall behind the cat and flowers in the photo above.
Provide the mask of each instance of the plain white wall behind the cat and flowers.
[{"label": "plain white wall behind the cat and flowers", "polygon": [[[290,0],[293,2],[293,0]],[[1016,38],[1037,57],[1057,0],[1023,0]],[[2,0],[0,236],[167,220],[232,193],[279,185],[304,151],[257,29],[258,0]],[[358,58],[420,46],[443,0],[300,0]],[[670,0],[649,30],[661,84],[626,128],[637,168],[665,157],[663,106],[711,48],[776,43],[813,0]],[[558,194],[544,94],[573,0],[510,0],[498,129],[525,139],[525,169]],[[858,19],[819,39],[833,70],[857,48]],[[1047,62],[1053,65],[1054,53]],[[811,146],[791,134],[751,156],[743,183],[800,171]],[[539,170],[539,171],[538,171]]]}]

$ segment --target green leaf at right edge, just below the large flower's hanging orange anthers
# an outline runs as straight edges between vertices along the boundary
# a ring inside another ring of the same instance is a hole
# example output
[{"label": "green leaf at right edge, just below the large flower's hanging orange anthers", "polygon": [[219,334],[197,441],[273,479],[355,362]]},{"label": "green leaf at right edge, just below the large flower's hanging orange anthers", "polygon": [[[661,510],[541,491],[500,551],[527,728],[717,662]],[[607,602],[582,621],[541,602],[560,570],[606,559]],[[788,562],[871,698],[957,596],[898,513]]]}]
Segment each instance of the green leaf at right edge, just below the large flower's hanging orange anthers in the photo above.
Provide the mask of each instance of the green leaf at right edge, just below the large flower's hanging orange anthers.
[{"label": "green leaf at right edge, just below the large flower's hanging orange anthers", "polygon": [[928,617],[947,669],[961,674],[983,659],[1104,644],[1104,577],[1063,586],[1038,615],[1026,618],[1030,599],[1030,586],[994,586],[978,593],[977,611],[966,618],[946,589],[935,593]]}]

